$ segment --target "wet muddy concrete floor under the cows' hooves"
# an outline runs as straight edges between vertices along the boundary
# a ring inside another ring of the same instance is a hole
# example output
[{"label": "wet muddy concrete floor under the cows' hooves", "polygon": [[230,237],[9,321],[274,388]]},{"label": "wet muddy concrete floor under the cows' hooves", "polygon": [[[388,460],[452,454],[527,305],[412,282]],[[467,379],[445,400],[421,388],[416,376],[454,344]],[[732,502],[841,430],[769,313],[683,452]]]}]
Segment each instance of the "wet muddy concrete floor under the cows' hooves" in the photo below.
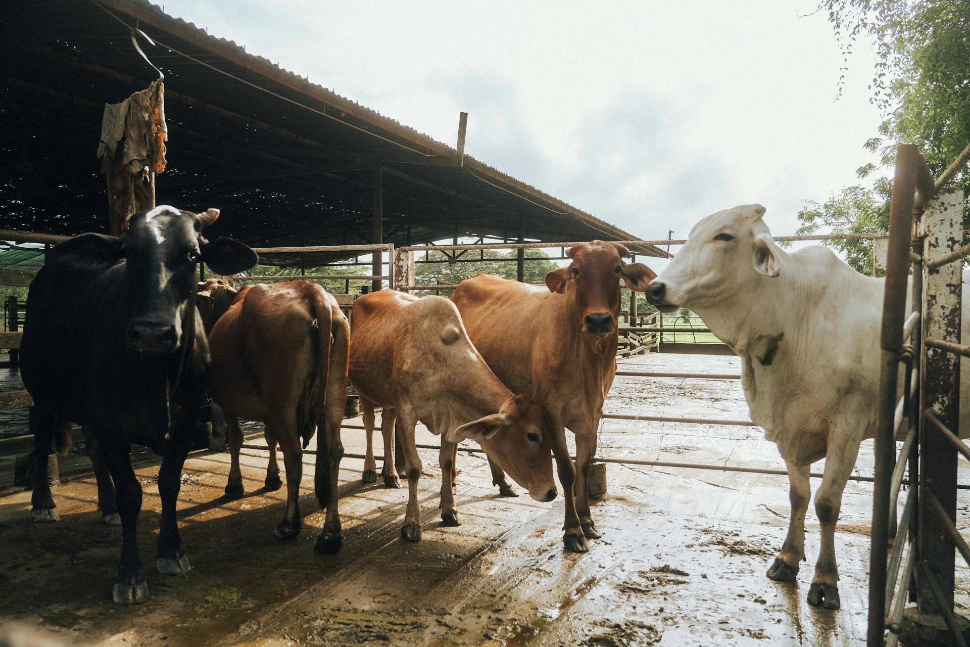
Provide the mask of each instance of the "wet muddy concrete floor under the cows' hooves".
[{"label": "wet muddy concrete floor under the cows' hooves", "polygon": [[[653,354],[623,362],[634,363],[739,372],[729,357]],[[620,377],[606,410],[747,415],[736,381],[670,378]],[[363,452],[359,430],[346,429],[343,441],[348,452]],[[427,432],[419,437],[435,441]],[[774,445],[750,427],[606,421],[599,445],[607,457],[783,468]],[[864,644],[869,483],[846,489],[836,537],[842,609],[824,611],[804,599],[819,546],[813,510],[809,562],[798,581],[764,576],[788,523],[784,476],[610,464],[609,492],[594,507],[603,538],[576,555],[562,550],[562,496],[552,503],[500,498],[480,454],[460,452],[463,525],[441,527],[437,454],[420,452],[423,540],[400,538],[406,490],[363,484],[363,461],[344,459],[344,545],[336,556],[312,550],[323,523],[312,495],[314,457],[305,459],[304,532],[282,542],[273,532],[285,490],[259,489],[265,454],[243,451],[247,496],[230,502],[220,499],[228,455],[193,456],[179,519],[194,571],[180,578],[152,566],[160,503],[157,465],[144,463],[140,541],[152,598],[134,608],[111,601],[120,533],[99,523],[93,477],[54,488],[62,520],[53,525],[32,524],[29,493],[7,487],[0,490],[0,619],[72,643],[109,645]],[[871,474],[871,453],[867,442],[857,474]],[[84,460],[72,457],[62,471]],[[970,482],[970,470],[961,470],[960,482]],[[813,488],[819,483],[812,479]],[[966,491],[958,507],[966,536]],[[970,572],[960,569],[957,581],[958,609],[970,615]]]}]

